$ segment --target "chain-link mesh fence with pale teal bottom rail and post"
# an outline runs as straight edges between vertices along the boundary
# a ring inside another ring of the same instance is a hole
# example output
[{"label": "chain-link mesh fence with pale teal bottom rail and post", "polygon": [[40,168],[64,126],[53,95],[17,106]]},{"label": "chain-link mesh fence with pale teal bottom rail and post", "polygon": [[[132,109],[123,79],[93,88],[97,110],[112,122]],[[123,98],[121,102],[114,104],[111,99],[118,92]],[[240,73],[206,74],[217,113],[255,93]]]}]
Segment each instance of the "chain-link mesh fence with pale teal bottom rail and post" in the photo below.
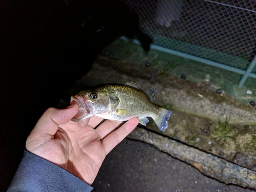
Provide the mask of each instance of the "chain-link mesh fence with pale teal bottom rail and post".
[{"label": "chain-link mesh fence with pale teal bottom rail and post", "polygon": [[234,82],[240,88],[248,77],[256,78],[256,1],[123,2],[137,12],[154,45],[242,74]]}]

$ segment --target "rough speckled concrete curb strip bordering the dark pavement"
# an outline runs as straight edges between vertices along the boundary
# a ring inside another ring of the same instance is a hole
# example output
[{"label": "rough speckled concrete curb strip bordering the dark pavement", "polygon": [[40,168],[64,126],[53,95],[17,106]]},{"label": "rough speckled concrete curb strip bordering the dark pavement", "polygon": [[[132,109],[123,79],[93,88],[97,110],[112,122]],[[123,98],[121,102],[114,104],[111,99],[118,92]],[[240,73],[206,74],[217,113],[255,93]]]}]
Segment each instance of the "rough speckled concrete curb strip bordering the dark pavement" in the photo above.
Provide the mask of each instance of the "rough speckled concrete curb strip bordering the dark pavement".
[{"label": "rough speckled concrete curb strip bordering the dark pavement", "polygon": [[202,174],[226,184],[256,189],[256,172],[250,169],[140,127],[136,127],[128,138],[151,144],[158,150],[196,167]]}]

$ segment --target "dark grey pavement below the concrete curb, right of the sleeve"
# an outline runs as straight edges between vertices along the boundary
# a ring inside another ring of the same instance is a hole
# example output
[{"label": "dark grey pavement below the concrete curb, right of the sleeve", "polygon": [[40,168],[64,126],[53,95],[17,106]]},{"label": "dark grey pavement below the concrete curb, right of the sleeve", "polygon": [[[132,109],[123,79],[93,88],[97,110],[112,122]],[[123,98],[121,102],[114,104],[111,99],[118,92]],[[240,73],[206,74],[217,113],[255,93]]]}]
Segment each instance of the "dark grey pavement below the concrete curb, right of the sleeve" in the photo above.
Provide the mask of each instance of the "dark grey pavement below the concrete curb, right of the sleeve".
[{"label": "dark grey pavement below the concrete curb, right of the sleeve", "polygon": [[254,191],[208,178],[154,146],[130,139],[106,156],[93,186],[93,191]]}]

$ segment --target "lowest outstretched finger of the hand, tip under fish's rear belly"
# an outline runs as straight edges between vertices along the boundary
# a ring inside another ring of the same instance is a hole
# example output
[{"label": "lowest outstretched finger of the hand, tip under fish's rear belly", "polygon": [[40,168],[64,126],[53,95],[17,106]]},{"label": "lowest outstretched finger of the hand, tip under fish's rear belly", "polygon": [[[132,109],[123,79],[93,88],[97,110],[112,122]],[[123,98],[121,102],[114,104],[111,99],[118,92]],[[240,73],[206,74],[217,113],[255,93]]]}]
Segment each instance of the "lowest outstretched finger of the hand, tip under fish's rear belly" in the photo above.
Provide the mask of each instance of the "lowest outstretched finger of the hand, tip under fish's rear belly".
[{"label": "lowest outstretched finger of the hand, tip under fish's rear belly", "polygon": [[113,148],[120,143],[127,135],[129,135],[135,127],[138,125],[139,119],[134,117],[124,123],[119,129],[112,132],[101,140],[101,143],[105,149],[106,155],[108,155]]}]

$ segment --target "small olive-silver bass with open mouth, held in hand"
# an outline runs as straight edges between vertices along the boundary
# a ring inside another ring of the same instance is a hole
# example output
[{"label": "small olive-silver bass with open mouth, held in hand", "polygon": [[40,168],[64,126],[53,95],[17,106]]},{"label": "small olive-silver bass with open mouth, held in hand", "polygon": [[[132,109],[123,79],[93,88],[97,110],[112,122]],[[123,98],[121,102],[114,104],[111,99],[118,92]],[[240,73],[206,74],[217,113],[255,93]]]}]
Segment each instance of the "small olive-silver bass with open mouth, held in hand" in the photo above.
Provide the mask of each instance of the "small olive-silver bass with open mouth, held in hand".
[{"label": "small olive-silver bass with open mouth, held in hand", "polygon": [[127,121],[138,117],[139,123],[146,126],[151,117],[160,131],[165,131],[171,111],[152,103],[155,92],[143,91],[139,84],[100,84],[71,96],[70,104],[79,104],[78,113],[71,119],[80,121],[93,115],[112,121]]}]

